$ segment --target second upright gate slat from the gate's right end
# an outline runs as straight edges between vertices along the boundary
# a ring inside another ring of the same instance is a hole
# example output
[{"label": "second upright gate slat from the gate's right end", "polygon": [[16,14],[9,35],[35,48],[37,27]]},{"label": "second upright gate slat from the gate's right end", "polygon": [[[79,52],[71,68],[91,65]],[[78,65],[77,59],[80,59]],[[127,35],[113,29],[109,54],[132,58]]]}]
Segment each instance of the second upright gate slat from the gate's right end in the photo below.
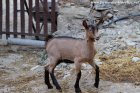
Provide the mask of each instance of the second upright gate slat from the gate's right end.
[{"label": "second upright gate slat from the gate's right end", "polygon": [[44,34],[47,36],[48,35],[48,0],[44,0],[44,16],[43,16],[43,23],[44,23]]}]

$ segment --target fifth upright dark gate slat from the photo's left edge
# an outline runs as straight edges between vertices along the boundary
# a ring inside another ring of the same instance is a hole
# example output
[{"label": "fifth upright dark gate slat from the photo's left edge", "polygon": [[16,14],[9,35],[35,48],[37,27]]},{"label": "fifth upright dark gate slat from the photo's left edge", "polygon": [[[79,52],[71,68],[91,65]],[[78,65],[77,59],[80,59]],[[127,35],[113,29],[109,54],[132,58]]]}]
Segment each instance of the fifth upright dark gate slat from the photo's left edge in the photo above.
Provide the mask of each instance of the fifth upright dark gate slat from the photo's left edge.
[{"label": "fifth upright dark gate slat from the photo's left edge", "polygon": [[29,34],[32,34],[32,26],[33,26],[33,23],[32,23],[32,4],[33,4],[33,1],[32,0],[28,0],[29,1],[29,26],[28,26],[28,30],[29,30]]}]

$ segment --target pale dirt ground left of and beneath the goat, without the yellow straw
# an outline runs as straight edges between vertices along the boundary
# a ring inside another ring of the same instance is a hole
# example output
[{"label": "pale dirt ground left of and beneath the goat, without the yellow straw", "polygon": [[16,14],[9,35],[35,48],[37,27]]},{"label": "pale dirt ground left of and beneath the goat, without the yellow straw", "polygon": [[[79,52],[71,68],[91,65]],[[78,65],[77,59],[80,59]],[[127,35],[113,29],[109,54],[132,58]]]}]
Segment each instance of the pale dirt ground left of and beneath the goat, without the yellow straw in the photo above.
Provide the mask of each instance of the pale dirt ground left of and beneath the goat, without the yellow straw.
[{"label": "pale dirt ground left of and beneath the goat, without the yellow straw", "polygon": [[[43,71],[31,70],[32,67],[38,65],[42,53],[43,49],[32,47],[0,46],[0,93],[58,93],[55,87],[53,90],[47,89]],[[98,93],[139,93],[139,80],[134,83],[130,83],[131,80],[123,83],[116,79],[117,82],[113,83],[113,79],[109,79],[109,77],[113,78],[111,74],[108,74],[108,78],[107,76],[103,77],[104,71],[102,70],[107,71],[107,69],[103,69],[104,65],[104,63],[101,65],[101,81]],[[110,69],[110,67],[108,68]],[[110,70],[112,71],[112,69]],[[64,72],[69,72],[69,74],[65,75]],[[55,73],[63,93],[74,93],[73,85],[76,77],[73,66],[63,69],[57,68]],[[125,78],[129,80],[129,77]],[[83,69],[80,82],[83,93],[97,93],[93,84],[94,71]]]}]

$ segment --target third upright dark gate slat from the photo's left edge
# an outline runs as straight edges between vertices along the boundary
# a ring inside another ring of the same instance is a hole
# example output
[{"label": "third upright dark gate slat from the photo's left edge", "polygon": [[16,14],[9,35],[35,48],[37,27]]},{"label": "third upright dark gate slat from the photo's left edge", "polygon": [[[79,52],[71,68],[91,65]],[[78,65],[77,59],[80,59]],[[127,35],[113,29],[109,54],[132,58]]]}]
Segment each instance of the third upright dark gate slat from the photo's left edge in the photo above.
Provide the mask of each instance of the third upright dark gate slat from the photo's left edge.
[{"label": "third upright dark gate slat from the photo's left edge", "polygon": [[[17,0],[13,0],[14,4],[14,26],[13,26],[13,32],[17,32]],[[17,35],[14,35],[14,38],[17,38]]]}]

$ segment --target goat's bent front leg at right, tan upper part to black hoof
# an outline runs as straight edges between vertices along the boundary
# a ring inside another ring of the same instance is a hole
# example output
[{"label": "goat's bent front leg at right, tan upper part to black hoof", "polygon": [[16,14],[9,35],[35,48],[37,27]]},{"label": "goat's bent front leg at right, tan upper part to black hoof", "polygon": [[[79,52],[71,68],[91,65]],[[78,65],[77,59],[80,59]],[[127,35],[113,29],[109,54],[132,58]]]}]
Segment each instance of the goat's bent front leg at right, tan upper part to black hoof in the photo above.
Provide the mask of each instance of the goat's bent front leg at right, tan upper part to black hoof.
[{"label": "goat's bent front leg at right, tan upper part to black hoof", "polygon": [[95,69],[96,75],[95,75],[95,83],[94,86],[96,88],[99,87],[99,81],[100,81],[100,77],[99,77],[99,67],[95,64],[94,61],[89,62],[89,64]]}]

